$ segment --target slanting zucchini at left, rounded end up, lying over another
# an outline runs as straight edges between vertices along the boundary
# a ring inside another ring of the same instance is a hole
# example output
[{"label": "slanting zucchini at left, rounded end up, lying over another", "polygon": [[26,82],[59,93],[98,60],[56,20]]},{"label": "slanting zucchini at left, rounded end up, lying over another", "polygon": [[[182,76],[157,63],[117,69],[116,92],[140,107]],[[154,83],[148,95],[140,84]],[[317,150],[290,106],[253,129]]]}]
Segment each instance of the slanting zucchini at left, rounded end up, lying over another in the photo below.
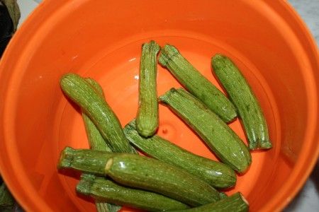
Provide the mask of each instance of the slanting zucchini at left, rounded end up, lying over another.
[{"label": "slanting zucchini at left, rounded end up, lying over another", "polygon": [[66,73],[60,80],[60,86],[65,95],[94,122],[113,152],[134,153],[118,117],[84,78],[75,73]]}]

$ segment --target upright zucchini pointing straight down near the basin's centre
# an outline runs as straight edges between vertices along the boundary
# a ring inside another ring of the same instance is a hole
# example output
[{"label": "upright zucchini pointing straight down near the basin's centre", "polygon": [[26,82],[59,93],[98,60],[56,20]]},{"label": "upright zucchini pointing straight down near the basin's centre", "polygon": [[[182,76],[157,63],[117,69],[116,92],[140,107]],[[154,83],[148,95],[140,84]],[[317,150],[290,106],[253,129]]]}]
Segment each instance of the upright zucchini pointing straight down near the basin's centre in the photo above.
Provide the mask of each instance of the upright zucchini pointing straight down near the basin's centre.
[{"label": "upright zucchini pointing straight down near the basin's centre", "polygon": [[136,126],[141,136],[149,137],[155,134],[158,127],[157,102],[157,53],[159,45],[155,41],[142,45],[140,59],[138,114]]}]

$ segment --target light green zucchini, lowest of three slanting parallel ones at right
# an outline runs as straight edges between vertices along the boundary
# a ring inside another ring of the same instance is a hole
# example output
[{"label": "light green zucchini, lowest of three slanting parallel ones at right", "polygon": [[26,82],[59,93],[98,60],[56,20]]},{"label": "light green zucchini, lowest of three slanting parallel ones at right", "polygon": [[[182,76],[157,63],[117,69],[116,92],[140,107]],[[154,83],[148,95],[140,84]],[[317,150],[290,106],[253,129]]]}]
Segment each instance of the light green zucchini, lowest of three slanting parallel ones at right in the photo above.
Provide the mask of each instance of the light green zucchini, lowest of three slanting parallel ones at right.
[{"label": "light green zucchini, lowest of three slanting parallel ones at right", "polygon": [[172,88],[159,100],[194,129],[223,163],[240,173],[247,170],[252,162],[247,146],[202,102],[183,88]]}]

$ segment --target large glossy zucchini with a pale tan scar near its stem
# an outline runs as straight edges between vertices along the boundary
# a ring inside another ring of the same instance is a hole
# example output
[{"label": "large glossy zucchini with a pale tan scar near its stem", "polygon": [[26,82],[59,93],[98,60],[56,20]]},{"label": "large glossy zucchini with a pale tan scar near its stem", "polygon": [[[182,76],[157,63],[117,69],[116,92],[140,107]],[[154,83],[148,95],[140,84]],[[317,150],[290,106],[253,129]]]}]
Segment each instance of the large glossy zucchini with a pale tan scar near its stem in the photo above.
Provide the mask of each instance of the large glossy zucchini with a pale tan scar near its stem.
[{"label": "large glossy zucchini with a pale tan scar near its stem", "polygon": [[120,184],[157,192],[191,206],[221,198],[216,189],[189,172],[141,155],[67,147],[60,155],[58,168],[108,175]]}]

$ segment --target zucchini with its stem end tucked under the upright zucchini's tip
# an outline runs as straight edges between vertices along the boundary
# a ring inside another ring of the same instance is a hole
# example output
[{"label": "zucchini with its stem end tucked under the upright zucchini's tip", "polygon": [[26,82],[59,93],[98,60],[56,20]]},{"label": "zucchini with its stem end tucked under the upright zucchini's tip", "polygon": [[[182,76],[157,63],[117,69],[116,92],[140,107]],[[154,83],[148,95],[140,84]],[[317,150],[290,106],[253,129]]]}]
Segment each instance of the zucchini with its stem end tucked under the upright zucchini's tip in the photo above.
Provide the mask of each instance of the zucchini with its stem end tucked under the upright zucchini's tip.
[{"label": "zucchini with its stem end tucked under the upright zucchini's tip", "polygon": [[124,134],[143,153],[181,167],[213,187],[228,188],[236,183],[235,172],[228,165],[194,155],[157,135],[145,139],[136,131],[134,120],[124,127]]}]

